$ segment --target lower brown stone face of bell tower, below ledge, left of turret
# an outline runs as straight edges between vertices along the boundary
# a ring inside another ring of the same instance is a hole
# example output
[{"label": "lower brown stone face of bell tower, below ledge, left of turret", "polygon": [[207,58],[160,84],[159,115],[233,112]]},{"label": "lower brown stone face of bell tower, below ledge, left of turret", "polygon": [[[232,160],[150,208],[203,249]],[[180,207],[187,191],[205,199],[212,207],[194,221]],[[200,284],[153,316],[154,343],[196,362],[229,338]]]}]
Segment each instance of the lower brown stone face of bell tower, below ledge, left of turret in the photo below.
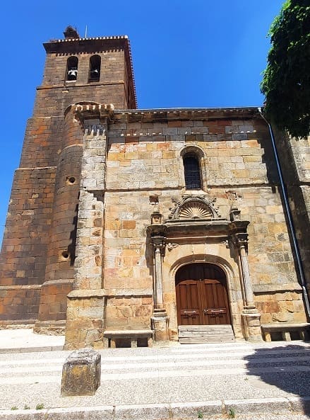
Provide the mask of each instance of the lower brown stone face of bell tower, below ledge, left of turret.
[{"label": "lower brown stone face of bell tower, below ledge, left of turret", "polygon": [[53,167],[16,171],[0,256],[0,320],[37,317],[55,172]]}]

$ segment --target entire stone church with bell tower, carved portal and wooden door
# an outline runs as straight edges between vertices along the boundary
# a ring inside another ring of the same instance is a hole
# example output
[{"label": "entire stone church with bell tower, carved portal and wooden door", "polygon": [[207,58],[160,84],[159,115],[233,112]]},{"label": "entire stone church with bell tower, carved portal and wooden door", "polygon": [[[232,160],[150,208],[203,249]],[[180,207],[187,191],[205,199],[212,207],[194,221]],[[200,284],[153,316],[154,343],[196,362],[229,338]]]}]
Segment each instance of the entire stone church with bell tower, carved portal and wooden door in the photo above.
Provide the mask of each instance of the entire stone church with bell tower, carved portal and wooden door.
[{"label": "entire stone church with bell tower, carved portal and wooden door", "polygon": [[64,35],[14,176],[1,326],[68,349],[304,338],[309,142],[254,107],[138,109],[128,38]]}]

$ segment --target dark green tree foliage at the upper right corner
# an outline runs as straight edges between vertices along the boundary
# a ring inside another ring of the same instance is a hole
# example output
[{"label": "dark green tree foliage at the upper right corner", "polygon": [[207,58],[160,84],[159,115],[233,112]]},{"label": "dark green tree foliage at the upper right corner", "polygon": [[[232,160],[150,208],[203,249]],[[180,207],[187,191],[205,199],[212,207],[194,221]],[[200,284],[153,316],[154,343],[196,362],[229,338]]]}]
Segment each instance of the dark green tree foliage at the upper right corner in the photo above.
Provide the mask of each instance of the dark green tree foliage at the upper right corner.
[{"label": "dark green tree foliage at the upper right corner", "polygon": [[310,0],[287,0],[270,31],[265,113],[293,137],[310,134]]}]

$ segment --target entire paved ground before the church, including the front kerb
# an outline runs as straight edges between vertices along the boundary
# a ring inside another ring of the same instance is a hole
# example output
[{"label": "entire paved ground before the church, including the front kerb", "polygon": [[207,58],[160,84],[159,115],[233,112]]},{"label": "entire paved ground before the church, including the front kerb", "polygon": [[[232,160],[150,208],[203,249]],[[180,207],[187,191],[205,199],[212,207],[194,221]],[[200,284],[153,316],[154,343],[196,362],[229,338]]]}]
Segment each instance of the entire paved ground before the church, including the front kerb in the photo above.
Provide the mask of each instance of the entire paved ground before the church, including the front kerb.
[{"label": "entire paved ground before the church, including the front kerb", "polygon": [[[202,414],[224,420],[232,410],[238,420],[264,420],[266,413],[270,420],[291,420],[291,414],[304,420],[300,413],[310,414],[310,344],[302,341],[107,348],[100,351],[101,386],[93,397],[60,396],[70,353],[0,353],[0,420],[181,420]],[[38,404],[44,405],[39,412]]]}]

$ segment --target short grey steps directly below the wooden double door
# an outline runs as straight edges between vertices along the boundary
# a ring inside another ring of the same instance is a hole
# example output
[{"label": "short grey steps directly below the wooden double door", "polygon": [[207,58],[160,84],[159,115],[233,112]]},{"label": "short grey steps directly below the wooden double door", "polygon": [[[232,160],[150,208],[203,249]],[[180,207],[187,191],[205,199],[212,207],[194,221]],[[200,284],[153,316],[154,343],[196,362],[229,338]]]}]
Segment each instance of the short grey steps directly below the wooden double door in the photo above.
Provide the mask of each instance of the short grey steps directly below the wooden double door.
[{"label": "short grey steps directly below the wooden double door", "polygon": [[181,344],[229,343],[234,341],[231,325],[179,325]]}]

